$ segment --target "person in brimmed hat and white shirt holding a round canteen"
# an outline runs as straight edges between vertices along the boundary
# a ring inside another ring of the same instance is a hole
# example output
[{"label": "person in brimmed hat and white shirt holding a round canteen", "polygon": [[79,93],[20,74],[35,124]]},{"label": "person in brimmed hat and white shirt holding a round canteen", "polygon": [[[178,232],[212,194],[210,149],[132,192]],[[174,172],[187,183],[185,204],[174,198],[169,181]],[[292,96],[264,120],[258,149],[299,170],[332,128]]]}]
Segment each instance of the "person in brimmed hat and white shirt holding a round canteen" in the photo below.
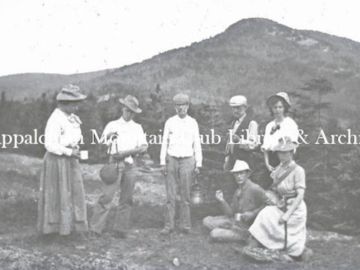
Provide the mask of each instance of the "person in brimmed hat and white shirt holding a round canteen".
[{"label": "person in brimmed hat and white shirt holding a round canteen", "polygon": [[104,129],[103,136],[109,145],[110,162],[118,162],[119,177],[113,184],[104,186],[94,215],[90,221],[90,237],[99,236],[104,228],[107,215],[111,208],[114,194],[119,189],[120,199],[116,212],[114,237],[125,238],[130,229],[132,193],[136,180],[136,157],[147,151],[148,143],[144,130],[132,121],[135,113],[141,113],[138,100],[131,95],[119,99],[122,106],[122,117],[111,121]]}]

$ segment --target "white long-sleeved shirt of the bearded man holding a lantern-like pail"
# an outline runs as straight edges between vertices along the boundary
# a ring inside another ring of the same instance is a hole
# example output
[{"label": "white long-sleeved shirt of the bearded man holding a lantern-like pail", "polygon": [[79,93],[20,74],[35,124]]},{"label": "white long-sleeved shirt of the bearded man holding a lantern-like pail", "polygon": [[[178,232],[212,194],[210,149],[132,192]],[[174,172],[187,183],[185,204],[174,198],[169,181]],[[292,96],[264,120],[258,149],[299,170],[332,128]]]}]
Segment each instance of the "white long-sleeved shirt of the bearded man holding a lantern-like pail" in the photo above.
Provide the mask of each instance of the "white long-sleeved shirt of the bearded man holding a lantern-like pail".
[{"label": "white long-sleeved shirt of the bearded man holding a lantern-like pail", "polygon": [[180,118],[177,114],[165,122],[160,152],[160,165],[166,165],[166,154],[172,157],[195,156],[195,166],[202,165],[199,126],[190,116]]}]

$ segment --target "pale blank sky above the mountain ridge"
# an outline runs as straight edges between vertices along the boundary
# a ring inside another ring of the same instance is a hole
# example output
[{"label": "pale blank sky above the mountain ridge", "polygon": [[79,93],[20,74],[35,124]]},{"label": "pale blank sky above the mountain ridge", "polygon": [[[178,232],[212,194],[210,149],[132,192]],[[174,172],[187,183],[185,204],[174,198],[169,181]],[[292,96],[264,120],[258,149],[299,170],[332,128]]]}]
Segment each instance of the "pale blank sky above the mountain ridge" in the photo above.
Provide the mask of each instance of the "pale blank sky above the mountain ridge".
[{"label": "pale blank sky above the mountain ridge", "polygon": [[360,41],[355,0],[0,0],[0,76],[121,67],[252,17]]}]

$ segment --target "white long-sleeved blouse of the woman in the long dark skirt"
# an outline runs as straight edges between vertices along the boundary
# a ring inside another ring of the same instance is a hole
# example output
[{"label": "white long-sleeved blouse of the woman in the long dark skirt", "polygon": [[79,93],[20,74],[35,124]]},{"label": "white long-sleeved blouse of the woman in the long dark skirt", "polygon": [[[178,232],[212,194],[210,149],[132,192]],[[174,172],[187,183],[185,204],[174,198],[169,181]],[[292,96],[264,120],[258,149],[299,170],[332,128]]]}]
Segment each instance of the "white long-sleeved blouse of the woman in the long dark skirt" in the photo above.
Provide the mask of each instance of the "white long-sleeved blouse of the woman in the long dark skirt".
[{"label": "white long-sleeved blouse of the woman in the long dark skirt", "polygon": [[50,153],[71,156],[72,147],[81,140],[81,121],[75,114],[55,109],[45,127],[45,148]]}]

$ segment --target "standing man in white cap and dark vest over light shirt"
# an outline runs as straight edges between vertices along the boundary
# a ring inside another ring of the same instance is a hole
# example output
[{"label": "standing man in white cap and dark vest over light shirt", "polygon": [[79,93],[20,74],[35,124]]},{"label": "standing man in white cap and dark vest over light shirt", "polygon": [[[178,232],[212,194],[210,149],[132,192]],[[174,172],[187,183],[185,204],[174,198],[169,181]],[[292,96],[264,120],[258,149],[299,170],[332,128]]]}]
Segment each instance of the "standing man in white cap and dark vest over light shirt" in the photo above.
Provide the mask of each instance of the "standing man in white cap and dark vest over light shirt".
[{"label": "standing man in white cap and dark vest over light shirt", "polygon": [[[233,111],[231,133],[228,133],[228,142],[225,149],[224,171],[234,167],[236,160],[243,160],[253,166],[252,153],[258,144],[258,125],[247,114],[247,100],[242,95],[233,96],[229,100]],[[230,138],[231,135],[231,138]]]}]

